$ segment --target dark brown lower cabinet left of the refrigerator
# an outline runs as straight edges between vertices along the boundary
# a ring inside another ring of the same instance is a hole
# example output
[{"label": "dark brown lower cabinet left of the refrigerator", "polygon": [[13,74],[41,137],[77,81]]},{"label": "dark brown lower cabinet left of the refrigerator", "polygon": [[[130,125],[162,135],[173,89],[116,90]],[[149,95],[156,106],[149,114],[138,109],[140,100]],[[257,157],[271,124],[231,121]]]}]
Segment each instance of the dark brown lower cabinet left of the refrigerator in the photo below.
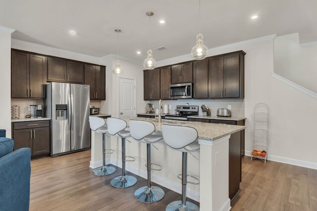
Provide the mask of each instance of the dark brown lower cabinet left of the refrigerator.
[{"label": "dark brown lower cabinet left of the refrigerator", "polygon": [[12,123],[14,150],[31,149],[31,159],[48,156],[51,150],[50,121]]}]

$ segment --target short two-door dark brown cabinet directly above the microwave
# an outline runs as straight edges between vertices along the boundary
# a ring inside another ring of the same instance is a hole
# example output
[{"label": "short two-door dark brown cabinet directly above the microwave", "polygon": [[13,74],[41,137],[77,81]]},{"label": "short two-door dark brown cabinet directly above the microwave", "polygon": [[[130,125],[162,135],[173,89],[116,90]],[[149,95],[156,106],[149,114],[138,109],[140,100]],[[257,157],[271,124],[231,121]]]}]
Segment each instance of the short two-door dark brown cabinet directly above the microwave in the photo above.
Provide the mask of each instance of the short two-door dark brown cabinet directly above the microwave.
[{"label": "short two-door dark brown cabinet directly above the microwave", "polygon": [[171,66],[171,84],[192,83],[193,63],[188,62]]}]

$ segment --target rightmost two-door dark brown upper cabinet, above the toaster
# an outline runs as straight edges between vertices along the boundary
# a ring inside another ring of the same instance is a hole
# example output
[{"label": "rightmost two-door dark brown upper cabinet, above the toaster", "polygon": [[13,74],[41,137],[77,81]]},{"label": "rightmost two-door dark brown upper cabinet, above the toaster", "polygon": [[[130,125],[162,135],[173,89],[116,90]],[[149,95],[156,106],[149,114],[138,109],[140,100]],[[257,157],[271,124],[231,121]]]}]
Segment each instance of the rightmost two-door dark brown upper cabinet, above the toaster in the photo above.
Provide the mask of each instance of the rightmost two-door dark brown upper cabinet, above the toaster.
[{"label": "rightmost two-door dark brown upper cabinet, above the toaster", "polygon": [[209,59],[209,98],[244,98],[244,51]]}]

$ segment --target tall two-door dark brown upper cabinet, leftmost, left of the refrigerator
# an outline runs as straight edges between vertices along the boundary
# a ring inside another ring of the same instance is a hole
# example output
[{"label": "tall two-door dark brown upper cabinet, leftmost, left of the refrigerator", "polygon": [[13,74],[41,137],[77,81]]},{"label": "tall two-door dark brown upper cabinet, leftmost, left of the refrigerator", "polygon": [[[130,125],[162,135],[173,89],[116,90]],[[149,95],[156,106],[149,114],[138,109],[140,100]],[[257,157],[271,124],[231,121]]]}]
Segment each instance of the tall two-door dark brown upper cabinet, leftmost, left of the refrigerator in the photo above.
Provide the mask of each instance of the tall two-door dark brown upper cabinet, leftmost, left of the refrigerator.
[{"label": "tall two-door dark brown upper cabinet, leftmost, left of the refrigerator", "polygon": [[11,51],[11,97],[46,97],[47,57]]}]

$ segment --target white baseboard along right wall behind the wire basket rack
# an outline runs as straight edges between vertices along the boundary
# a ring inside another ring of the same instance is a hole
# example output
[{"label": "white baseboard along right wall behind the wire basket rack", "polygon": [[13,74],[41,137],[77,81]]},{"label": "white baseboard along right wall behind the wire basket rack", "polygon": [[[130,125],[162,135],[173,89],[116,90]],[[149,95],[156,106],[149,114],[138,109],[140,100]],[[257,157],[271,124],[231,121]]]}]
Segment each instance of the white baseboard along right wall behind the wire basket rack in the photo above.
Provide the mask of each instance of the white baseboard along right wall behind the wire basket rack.
[{"label": "white baseboard along right wall behind the wire basket rack", "polygon": [[[251,152],[245,151],[245,155],[251,156]],[[305,167],[305,168],[309,168],[309,169],[317,169],[316,163],[296,160],[296,159],[292,159],[292,158],[284,158],[284,157],[279,157],[279,156],[270,155],[270,154],[267,155],[267,160],[268,161],[275,161],[275,162],[279,162],[279,163],[283,163],[283,164],[290,164],[290,165],[299,166],[299,167]]]}]

